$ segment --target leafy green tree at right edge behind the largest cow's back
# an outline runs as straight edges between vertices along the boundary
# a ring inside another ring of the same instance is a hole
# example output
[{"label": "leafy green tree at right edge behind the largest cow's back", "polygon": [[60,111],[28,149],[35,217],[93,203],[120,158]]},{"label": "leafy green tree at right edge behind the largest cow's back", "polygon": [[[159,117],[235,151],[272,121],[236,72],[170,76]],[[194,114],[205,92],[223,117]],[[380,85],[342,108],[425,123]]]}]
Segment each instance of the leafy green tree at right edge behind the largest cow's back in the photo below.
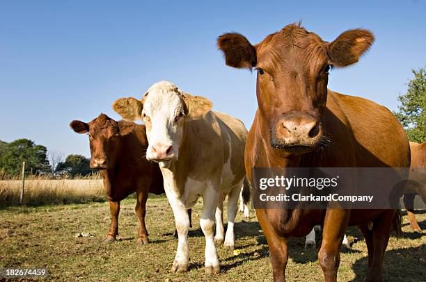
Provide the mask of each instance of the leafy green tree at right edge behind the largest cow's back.
[{"label": "leafy green tree at right edge behind the largest cow's back", "polygon": [[426,142],[426,69],[412,70],[414,78],[409,81],[408,90],[400,94],[401,106],[395,113],[410,141]]}]

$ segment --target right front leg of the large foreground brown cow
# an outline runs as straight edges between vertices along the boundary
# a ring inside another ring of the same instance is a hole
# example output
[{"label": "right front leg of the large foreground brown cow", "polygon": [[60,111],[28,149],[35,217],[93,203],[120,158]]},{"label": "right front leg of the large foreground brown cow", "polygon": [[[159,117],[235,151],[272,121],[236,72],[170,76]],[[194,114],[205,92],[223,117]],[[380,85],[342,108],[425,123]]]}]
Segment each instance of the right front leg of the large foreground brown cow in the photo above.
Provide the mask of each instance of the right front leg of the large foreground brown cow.
[{"label": "right front leg of the large foreground brown cow", "polygon": [[318,252],[319,265],[324,272],[326,282],[337,281],[337,272],[340,263],[340,246],[350,210],[329,208],[326,211],[324,227],[322,231],[322,244]]}]

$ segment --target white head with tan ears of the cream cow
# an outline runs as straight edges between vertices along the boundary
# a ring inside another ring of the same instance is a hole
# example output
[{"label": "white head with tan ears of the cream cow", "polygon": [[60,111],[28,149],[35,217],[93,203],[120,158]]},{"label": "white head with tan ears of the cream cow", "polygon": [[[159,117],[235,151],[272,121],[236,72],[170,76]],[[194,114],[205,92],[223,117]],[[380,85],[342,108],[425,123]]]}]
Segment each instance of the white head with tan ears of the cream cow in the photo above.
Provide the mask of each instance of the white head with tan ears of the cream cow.
[{"label": "white head with tan ears of the cream cow", "polygon": [[113,109],[124,119],[143,119],[148,138],[146,158],[167,167],[178,160],[184,135],[184,119],[199,119],[212,110],[212,102],[192,96],[167,81],[152,85],[142,101],[121,98]]}]

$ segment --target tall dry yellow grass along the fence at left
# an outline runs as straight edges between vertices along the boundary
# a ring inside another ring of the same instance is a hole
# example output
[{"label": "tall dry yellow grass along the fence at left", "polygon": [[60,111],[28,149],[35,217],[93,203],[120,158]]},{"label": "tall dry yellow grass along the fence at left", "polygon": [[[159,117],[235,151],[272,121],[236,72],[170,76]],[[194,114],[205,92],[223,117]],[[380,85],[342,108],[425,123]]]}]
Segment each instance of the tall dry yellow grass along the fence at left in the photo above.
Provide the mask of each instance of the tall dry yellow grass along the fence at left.
[{"label": "tall dry yellow grass along the fence at left", "polygon": [[[19,204],[22,181],[0,181],[0,206]],[[24,204],[68,204],[104,199],[101,179],[25,180]]]}]

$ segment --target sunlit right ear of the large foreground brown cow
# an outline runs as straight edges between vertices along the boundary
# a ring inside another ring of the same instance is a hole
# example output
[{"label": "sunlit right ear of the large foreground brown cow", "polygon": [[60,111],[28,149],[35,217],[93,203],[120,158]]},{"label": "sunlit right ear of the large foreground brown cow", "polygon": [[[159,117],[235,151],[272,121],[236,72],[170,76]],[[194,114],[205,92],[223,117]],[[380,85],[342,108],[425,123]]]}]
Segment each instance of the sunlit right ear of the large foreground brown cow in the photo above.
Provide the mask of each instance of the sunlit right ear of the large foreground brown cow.
[{"label": "sunlit right ear of the large foreground brown cow", "polygon": [[331,65],[345,67],[358,62],[373,42],[374,35],[366,29],[345,31],[329,44]]}]

